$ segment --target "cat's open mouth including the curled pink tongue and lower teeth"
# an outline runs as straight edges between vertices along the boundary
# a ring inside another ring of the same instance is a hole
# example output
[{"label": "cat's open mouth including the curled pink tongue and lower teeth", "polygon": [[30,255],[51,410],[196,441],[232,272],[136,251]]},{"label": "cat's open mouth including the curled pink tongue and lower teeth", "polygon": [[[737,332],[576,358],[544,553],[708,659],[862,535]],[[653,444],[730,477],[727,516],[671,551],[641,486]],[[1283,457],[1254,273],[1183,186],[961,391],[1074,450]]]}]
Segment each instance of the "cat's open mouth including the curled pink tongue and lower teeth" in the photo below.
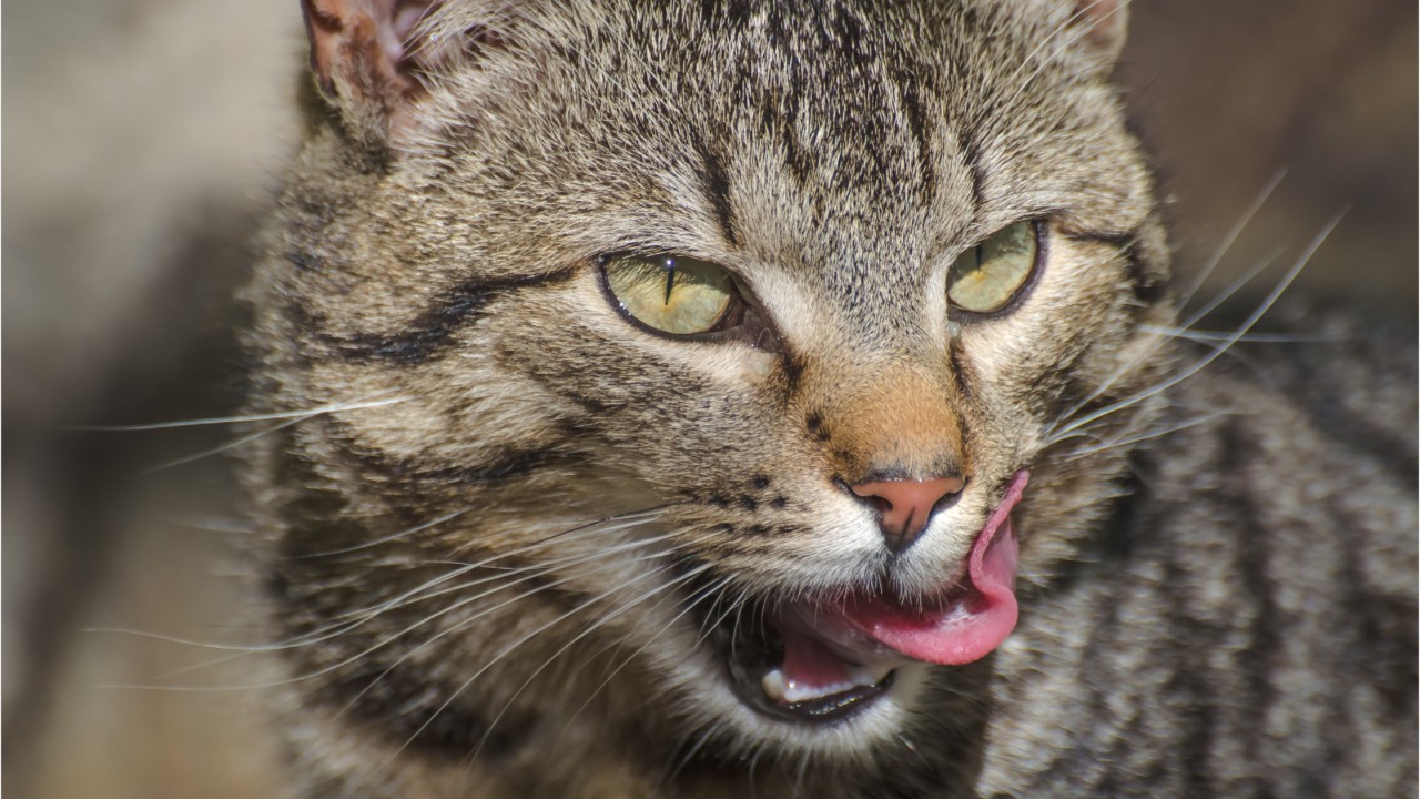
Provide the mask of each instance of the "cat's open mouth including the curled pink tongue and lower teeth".
[{"label": "cat's open mouth including the curled pink tongue and lower teeth", "polygon": [[909,663],[961,665],[1015,628],[1017,540],[1010,512],[1018,472],[971,545],[966,579],[936,597],[903,601],[856,591],[831,601],[764,603],[717,626],[730,685],[747,707],[795,722],[845,718],[880,699]]}]

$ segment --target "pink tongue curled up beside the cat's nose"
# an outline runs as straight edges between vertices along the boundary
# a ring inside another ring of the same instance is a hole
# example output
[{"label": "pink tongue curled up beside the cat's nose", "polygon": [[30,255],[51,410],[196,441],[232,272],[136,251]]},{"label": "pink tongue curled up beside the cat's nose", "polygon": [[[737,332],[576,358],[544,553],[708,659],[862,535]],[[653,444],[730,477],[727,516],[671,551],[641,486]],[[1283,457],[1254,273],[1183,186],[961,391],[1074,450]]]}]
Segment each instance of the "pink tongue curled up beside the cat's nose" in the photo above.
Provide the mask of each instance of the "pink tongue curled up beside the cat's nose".
[{"label": "pink tongue curled up beside the cat's nose", "polygon": [[940,613],[916,613],[863,599],[843,608],[843,618],[869,638],[910,658],[960,665],[981,660],[1015,628],[1015,530],[1010,513],[1030,473],[1017,472],[1001,505],[971,545],[967,573],[974,594]]}]

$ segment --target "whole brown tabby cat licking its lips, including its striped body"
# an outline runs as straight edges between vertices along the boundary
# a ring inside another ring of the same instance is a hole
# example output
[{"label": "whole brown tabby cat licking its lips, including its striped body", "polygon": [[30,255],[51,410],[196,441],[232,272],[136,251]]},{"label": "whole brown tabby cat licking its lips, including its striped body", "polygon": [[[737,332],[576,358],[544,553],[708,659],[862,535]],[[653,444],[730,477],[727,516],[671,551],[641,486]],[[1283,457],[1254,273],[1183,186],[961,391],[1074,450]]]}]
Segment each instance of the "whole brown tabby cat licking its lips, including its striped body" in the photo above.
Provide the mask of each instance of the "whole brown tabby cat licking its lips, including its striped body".
[{"label": "whole brown tabby cat licking its lips, including its striped body", "polygon": [[1413,343],[1176,334],[1123,3],[302,11],[302,795],[1414,795]]}]

